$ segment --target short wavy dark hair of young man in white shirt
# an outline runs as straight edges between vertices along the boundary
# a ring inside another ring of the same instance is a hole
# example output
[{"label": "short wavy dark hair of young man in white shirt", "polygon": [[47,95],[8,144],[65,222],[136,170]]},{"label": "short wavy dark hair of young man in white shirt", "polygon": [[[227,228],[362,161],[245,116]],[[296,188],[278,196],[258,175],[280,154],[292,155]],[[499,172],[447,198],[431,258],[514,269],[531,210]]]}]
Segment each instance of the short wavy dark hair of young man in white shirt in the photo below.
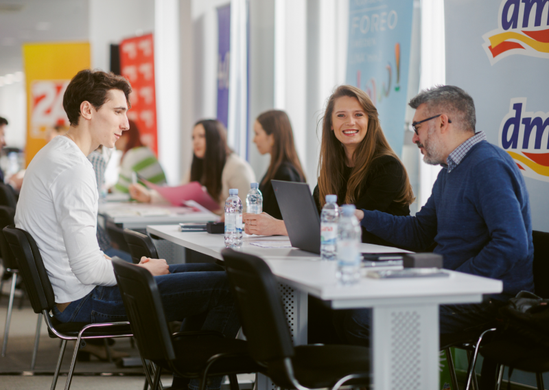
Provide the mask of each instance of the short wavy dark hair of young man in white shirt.
[{"label": "short wavy dark hair of young man in white shirt", "polygon": [[108,91],[111,89],[119,89],[124,92],[128,108],[130,108],[132,87],[130,82],[122,76],[99,69],[94,71],[84,69],[76,73],[76,76],[69,82],[65,95],[63,95],[63,108],[65,108],[71,126],[78,125],[80,104],[82,102],[90,102],[95,110],[99,110],[108,100]]}]

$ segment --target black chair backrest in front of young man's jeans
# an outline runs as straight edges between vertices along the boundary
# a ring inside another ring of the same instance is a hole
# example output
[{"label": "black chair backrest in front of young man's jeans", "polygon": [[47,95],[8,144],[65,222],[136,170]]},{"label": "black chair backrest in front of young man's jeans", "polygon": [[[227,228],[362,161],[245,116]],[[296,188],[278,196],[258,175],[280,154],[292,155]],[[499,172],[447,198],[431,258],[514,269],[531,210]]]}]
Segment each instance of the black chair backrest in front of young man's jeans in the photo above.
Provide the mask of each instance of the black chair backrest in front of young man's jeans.
[{"label": "black chair backrest in front of young man's jeans", "polygon": [[170,329],[151,273],[119,257],[113,257],[113,267],[139,354],[150,360],[174,360]]}]

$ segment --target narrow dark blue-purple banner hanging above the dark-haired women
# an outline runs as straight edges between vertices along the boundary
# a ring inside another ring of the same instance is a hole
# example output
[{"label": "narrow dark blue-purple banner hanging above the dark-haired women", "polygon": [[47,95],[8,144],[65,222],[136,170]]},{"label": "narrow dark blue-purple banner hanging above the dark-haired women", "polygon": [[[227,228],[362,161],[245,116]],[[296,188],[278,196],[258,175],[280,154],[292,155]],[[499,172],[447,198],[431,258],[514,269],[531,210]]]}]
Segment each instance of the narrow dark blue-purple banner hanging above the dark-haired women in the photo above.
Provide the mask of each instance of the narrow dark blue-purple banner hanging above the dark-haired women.
[{"label": "narrow dark blue-purple banner hanging above the dark-haired women", "polygon": [[229,126],[229,63],[231,52],[231,4],[218,8],[218,120]]}]

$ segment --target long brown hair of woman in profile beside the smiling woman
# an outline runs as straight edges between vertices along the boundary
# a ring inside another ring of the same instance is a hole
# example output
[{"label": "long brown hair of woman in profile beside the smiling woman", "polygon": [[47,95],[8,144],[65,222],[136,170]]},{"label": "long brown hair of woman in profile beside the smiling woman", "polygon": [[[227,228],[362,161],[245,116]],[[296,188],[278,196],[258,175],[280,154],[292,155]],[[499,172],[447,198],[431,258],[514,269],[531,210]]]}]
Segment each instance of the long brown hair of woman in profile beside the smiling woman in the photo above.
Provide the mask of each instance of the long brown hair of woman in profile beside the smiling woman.
[{"label": "long brown hair of woman in profile beside the smiling woman", "polygon": [[269,183],[274,178],[274,174],[280,168],[282,163],[290,163],[294,166],[299,177],[305,181],[305,174],[301,168],[299,157],[294,146],[294,132],[290,124],[290,118],[284,111],[269,110],[257,117],[257,122],[261,125],[267,135],[273,135],[274,143],[270,157],[269,169],[265,175],[262,185]]}]

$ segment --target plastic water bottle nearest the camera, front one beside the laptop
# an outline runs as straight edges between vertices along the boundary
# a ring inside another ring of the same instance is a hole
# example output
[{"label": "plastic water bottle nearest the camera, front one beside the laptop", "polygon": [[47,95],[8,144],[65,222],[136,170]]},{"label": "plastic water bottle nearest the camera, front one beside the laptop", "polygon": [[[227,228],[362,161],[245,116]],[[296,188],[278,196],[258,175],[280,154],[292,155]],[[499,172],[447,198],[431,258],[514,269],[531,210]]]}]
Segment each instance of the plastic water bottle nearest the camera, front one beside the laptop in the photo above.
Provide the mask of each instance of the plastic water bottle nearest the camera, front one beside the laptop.
[{"label": "plastic water bottle nearest the camera, front one beside the laptop", "polygon": [[360,279],[360,236],[362,230],[355,217],[355,205],[342,205],[338,222],[338,273],[341,284]]}]

